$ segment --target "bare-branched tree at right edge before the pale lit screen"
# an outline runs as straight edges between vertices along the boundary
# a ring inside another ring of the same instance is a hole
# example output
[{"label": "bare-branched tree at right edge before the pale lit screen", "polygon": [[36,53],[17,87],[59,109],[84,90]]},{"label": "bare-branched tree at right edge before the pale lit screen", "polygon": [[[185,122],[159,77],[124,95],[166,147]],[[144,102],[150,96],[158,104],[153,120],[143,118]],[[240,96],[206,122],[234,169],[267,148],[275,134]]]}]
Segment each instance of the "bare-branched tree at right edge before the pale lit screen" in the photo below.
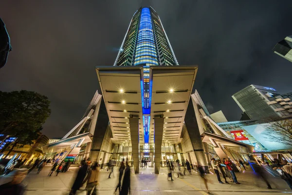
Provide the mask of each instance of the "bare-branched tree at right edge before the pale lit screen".
[{"label": "bare-branched tree at right edge before the pale lit screen", "polygon": [[270,119],[269,121],[266,125],[269,131],[264,136],[274,142],[292,146],[292,119]]}]

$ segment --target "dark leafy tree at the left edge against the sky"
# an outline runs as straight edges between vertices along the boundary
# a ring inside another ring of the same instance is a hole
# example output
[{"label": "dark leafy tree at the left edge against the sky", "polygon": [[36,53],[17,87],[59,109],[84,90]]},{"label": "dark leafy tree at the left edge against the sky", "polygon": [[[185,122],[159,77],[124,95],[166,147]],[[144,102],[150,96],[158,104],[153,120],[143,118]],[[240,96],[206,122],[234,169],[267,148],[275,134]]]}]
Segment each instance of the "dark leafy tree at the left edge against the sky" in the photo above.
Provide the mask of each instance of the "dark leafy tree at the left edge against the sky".
[{"label": "dark leafy tree at the left edge against the sky", "polygon": [[30,91],[0,91],[0,134],[17,137],[15,146],[32,144],[51,114],[46,96]]}]

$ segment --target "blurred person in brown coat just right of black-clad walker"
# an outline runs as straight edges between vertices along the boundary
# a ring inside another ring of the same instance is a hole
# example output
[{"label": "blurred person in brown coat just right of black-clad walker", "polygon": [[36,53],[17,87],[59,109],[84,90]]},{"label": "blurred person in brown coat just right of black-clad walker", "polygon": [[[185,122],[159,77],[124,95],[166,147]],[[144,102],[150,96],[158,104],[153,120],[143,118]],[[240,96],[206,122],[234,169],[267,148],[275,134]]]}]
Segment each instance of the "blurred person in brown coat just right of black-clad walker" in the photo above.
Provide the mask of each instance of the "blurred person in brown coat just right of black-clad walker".
[{"label": "blurred person in brown coat just right of black-clad walker", "polygon": [[85,187],[85,190],[87,191],[87,195],[97,195],[96,191],[97,191],[99,171],[100,171],[100,168],[97,166],[97,162],[94,162],[91,165],[91,169],[89,170],[87,176],[85,177],[81,185],[83,186],[83,184],[87,182],[86,187]]}]

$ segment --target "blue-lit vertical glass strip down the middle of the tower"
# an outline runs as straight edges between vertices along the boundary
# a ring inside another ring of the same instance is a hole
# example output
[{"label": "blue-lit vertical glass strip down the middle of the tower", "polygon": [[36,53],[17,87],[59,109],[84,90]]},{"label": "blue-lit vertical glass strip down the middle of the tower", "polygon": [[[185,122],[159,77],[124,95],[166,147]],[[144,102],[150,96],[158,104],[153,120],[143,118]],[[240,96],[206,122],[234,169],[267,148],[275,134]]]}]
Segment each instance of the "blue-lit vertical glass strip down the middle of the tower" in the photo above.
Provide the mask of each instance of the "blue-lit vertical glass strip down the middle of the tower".
[{"label": "blue-lit vertical glass strip down the middle of the tower", "polygon": [[156,44],[153,33],[150,9],[142,8],[134,65],[143,65],[141,98],[143,107],[144,141],[149,143],[150,109],[152,81],[149,82],[149,66],[158,65]]}]

